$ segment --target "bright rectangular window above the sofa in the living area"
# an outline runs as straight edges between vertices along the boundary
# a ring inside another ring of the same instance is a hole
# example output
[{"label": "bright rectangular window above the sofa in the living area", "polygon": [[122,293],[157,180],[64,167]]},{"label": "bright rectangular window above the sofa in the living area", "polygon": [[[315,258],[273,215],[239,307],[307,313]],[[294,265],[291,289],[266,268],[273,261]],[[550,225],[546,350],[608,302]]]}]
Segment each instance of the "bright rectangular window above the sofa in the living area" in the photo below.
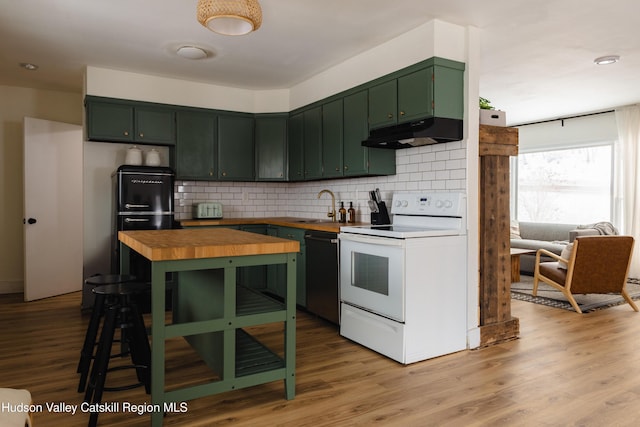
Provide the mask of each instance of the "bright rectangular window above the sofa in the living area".
[{"label": "bright rectangular window above the sofa in the living area", "polygon": [[522,153],[517,158],[519,221],[611,221],[613,145]]}]

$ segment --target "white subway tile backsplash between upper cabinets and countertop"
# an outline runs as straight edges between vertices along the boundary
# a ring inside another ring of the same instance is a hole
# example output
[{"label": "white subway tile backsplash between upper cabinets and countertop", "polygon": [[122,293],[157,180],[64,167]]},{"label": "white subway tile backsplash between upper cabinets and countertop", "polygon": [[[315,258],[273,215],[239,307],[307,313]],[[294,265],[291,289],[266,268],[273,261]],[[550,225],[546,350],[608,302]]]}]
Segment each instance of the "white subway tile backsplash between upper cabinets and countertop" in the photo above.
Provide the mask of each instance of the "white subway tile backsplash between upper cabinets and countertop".
[{"label": "white subway tile backsplash between upper cabinets and countertop", "polygon": [[466,143],[426,145],[396,151],[396,175],[313,182],[176,181],[176,219],[190,219],[192,205],[221,202],[225,218],[293,216],[325,219],[331,190],[340,202],[353,202],[358,221],[369,222],[369,191],[380,188],[388,204],[395,191],[464,191]]}]

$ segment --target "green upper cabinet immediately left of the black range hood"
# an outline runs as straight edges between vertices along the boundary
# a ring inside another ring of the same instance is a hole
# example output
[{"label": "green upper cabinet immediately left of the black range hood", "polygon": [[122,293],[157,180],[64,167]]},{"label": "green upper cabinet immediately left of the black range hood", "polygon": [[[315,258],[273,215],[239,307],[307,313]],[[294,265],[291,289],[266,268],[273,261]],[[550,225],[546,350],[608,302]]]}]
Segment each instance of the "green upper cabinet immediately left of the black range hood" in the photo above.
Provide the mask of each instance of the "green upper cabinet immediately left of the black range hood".
[{"label": "green upper cabinet immediately left of the black range hood", "polygon": [[394,150],[368,148],[362,141],[369,136],[368,93],[361,90],[344,98],[344,176],[393,175]]}]

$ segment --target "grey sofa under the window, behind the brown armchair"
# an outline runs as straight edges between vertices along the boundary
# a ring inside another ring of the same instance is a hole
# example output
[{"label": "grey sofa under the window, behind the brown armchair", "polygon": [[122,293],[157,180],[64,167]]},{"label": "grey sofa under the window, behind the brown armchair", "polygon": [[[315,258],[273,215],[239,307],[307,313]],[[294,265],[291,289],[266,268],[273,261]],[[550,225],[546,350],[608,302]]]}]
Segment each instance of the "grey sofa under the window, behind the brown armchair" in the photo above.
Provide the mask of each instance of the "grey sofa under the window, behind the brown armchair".
[{"label": "grey sofa under the window, behind the brown armchair", "polygon": [[[579,228],[580,227],[580,228]],[[546,249],[556,255],[577,236],[594,236],[603,234],[595,228],[581,228],[577,224],[554,224],[542,222],[511,222],[511,248],[531,249],[531,254],[520,255],[520,272],[533,276],[536,260],[535,252]],[[542,257],[543,261],[554,261]]]}]

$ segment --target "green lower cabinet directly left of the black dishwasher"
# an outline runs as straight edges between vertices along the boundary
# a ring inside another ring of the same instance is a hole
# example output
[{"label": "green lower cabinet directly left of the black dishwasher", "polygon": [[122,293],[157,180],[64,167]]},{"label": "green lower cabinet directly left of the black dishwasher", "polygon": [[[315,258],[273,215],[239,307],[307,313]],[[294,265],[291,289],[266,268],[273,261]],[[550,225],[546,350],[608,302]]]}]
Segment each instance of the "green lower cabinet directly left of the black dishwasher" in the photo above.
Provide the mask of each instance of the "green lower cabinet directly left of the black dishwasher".
[{"label": "green lower cabinet directly left of the black dishwasher", "polygon": [[[282,237],[283,239],[297,240],[300,243],[300,252],[296,256],[296,304],[302,307],[307,306],[307,286],[306,286],[306,250],[304,234],[305,230],[293,227],[280,227],[270,225],[268,228],[270,236]],[[286,266],[267,266],[267,290],[279,297],[284,297],[286,291],[283,283],[286,283]]]}]

